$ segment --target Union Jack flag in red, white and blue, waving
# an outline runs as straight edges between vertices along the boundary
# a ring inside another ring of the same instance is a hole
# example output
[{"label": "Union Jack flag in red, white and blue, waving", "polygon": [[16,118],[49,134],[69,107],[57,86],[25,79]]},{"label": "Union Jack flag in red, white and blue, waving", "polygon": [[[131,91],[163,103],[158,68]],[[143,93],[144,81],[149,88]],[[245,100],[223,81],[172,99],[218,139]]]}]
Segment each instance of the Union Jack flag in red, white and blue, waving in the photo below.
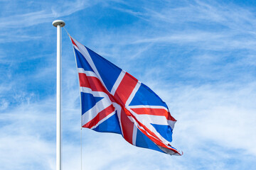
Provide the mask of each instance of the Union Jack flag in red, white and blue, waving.
[{"label": "Union Jack flag in red, white and blue, waving", "polygon": [[171,146],[176,120],[148,86],[70,36],[82,106],[82,128],[120,134],[137,147],[181,155]]}]

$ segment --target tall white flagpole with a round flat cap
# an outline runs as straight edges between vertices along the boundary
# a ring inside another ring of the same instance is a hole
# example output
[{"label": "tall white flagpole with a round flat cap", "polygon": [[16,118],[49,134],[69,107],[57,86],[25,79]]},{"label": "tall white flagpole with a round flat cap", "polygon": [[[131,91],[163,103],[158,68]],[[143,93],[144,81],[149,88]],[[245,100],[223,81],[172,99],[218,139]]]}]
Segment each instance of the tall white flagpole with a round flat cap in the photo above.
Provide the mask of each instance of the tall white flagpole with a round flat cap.
[{"label": "tall white flagpole with a round flat cap", "polygon": [[65,22],[53,21],[57,27],[57,87],[56,87],[56,170],[61,170],[61,27]]}]

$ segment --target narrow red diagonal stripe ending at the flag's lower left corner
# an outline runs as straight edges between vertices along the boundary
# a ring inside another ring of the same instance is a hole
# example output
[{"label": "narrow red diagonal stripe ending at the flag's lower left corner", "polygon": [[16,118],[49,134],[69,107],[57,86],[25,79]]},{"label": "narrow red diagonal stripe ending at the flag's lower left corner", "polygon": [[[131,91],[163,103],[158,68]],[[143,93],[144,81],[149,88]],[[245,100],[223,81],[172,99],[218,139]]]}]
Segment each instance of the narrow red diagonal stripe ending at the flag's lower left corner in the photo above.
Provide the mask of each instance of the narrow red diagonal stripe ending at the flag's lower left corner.
[{"label": "narrow red diagonal stripe ending at the flag's lower left corner", "polygon": [[106,118],[107,115],[110,115],[110,113],[114,112],[114,106],[108,106],[103,111],[99,112],[95,118],[90,120],[90,122],[86,123],[82,126],[82,128],[92,128],[93,126],[97,125],[97,123],[100,122],[100,120]]}]

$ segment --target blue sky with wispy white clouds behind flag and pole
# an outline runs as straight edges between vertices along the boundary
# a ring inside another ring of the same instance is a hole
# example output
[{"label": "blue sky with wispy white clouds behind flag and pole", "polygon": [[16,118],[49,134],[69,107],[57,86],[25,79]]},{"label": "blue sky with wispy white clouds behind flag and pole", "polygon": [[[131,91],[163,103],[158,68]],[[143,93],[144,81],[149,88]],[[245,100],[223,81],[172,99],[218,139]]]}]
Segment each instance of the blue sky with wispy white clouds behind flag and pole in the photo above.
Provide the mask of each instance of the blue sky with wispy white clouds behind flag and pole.
[{"label": "blue sky with wispy white clouds behind flag and pole", "polygon": [[[255,1],[0,1],[0,169],[55,169],[55,19],[159,94],[171,157],[82,130],[84,169],[253,169]],[[80,169],[75,58],[63,30],[63,169]]]}]

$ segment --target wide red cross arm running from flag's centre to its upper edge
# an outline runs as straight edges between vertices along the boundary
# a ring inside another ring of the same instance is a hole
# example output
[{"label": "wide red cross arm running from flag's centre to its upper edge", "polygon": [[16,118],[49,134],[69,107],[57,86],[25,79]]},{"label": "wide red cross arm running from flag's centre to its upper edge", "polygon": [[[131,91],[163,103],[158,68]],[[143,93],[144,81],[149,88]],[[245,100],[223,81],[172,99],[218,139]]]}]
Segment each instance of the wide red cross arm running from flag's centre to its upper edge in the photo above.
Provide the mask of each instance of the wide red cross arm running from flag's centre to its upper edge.
[{"label": "wide red cross arm running from flag's centre to its upper edge", "polygon": [[114,98],[117,99],[117,101],[119,101],[119,103],[122,103],[122,105],[124,106],[127,102],[127,99],[132,94],[134,87],[137,85],[137,82],[137,79],[132,77],[130,74],[125,73],[124,78],[117,87]]}]

